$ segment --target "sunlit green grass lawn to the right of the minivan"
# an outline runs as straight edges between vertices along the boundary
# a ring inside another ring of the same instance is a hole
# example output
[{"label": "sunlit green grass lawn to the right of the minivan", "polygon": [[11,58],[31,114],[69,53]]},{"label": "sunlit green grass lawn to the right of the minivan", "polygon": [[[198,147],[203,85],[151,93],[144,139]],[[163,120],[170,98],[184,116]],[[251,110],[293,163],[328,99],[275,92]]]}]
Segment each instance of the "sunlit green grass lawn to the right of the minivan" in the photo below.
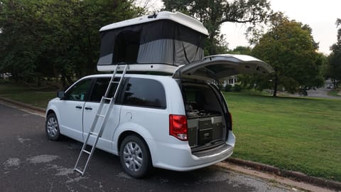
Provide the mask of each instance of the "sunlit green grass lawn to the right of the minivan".
[{"label": "sunlit green grass lawn to the right of the minivan", "polygon": [[233,157],[341,181],[341,100],[224,95]]}]

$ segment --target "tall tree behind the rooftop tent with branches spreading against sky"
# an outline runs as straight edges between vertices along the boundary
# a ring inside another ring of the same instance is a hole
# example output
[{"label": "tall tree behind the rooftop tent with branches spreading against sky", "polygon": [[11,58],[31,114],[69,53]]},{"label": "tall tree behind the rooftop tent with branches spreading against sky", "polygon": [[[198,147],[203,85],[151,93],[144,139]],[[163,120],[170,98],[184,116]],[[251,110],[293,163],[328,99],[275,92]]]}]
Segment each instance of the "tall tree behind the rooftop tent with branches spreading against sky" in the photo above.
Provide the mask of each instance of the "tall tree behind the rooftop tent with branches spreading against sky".
[{"label": "tall tree behind the rooftop tent with branches spreading against sky", "polygon": [[225,22],[251,23],[248,31],[254,30],[256,23],[267,21],[272,14],[267,0],[208,0],[193,1],[163,0],[166,10],[180,11],[201,21],[210,33],[205,43],[210,55],[220,52],[220,26]]}]

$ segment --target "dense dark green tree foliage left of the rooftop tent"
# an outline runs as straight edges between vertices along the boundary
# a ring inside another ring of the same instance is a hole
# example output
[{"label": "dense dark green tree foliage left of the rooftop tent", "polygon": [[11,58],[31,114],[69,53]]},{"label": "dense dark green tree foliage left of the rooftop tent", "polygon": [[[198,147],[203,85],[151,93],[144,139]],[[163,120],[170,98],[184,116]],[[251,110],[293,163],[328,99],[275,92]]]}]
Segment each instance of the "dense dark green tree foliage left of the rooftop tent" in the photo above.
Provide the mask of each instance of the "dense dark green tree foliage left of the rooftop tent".
[{"label": "dense dark green tree foliage left of the rooftop tent", "polygon": [[1,0],[0,73],[17,80],[95,73],[99,28],[141,13],[132,1]]}]

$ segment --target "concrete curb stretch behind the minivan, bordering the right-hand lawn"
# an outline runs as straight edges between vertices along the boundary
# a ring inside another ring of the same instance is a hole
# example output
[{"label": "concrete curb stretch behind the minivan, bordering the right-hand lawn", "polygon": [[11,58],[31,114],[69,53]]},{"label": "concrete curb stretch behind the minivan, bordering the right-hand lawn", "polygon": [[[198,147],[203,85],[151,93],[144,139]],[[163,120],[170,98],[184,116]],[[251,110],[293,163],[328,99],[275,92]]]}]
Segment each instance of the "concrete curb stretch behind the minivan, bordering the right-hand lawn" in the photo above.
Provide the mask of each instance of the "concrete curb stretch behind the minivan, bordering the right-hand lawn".
[{"label": "concrete curb stretch behind the minivan, bordering the right-hand lawn", "polygon": [[239,166],[248,166],[252,169],[256,169],[257,171],[266,171],[269,173],[276,174],[278,176],[293,178],[296,181],[303,181],[306,183],[313,183],[317,186],[332,188],[336,191],[341,191],[341,183],[337,181],[330,181],[325,178],[318,178],[314,176],[307,176],[297,171],[288,171],[285,169],[279,169],[275,166],[269,166],[266,164],[259,164],[253,161],[246,161],[243,159],[229,158],[225,161],[230,162],[232,164],[237,164]]}]

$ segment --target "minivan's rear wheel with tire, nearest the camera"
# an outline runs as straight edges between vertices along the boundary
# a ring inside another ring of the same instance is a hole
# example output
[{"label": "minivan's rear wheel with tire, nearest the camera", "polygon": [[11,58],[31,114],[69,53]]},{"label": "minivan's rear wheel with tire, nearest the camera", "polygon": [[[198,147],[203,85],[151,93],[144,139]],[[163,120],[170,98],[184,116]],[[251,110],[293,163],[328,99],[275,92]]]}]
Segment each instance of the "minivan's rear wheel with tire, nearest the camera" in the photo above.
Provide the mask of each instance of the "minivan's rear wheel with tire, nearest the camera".
[{"label": "minivan's rear wheel with tire, nearest the camera", "polygon": [[119,159],[124,172],[134,178],[146,176],[151,169],[148,146],[135,135],[124,138],[119,150]]}]

